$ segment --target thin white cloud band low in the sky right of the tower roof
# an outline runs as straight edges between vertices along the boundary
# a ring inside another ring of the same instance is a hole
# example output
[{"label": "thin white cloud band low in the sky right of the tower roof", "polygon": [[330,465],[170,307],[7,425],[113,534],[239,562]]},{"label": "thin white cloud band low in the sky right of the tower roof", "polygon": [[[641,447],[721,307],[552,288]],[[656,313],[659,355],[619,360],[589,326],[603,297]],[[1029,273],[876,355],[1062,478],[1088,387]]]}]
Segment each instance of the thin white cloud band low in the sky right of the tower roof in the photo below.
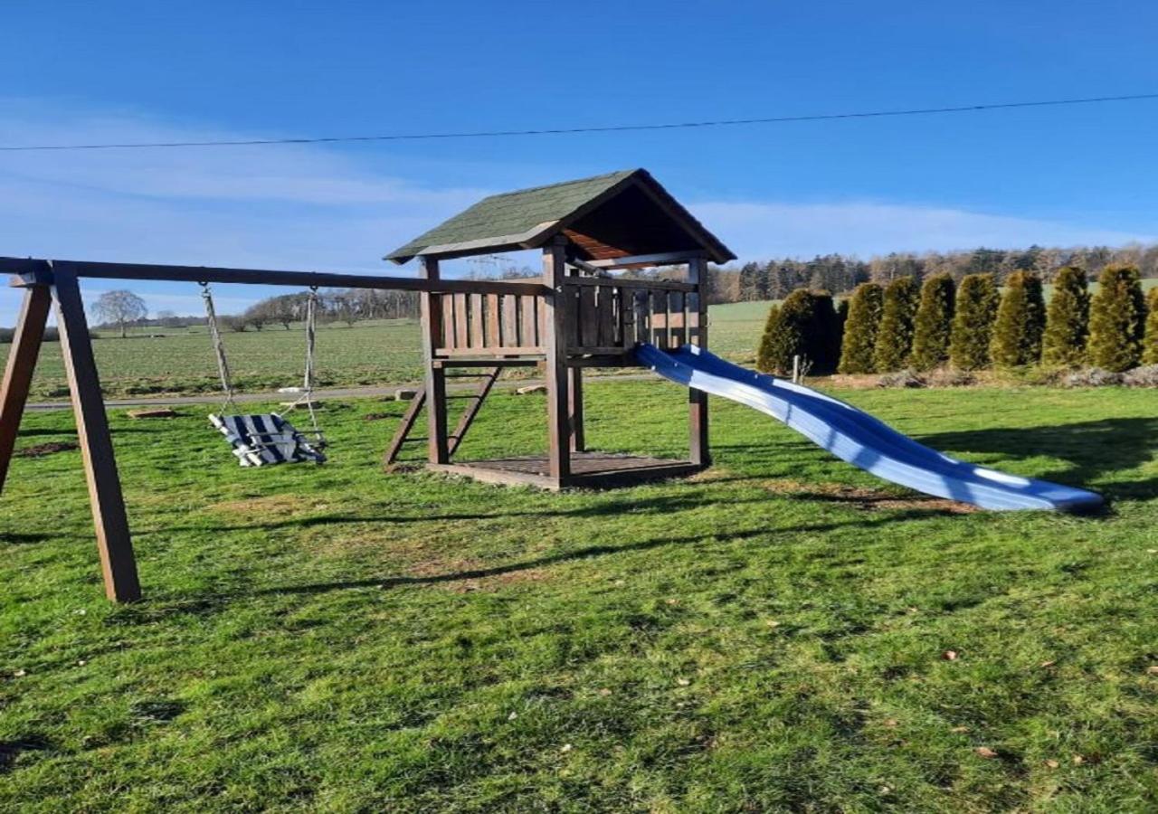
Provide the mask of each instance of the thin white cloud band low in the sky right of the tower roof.
[{"label": "thin white cloud band low in the sky right of the tower roof", "polygon": [[1153,235],[940,206],[720,203],[691,207],[740,257],[812,257],[989,247],[1121,245]]}]

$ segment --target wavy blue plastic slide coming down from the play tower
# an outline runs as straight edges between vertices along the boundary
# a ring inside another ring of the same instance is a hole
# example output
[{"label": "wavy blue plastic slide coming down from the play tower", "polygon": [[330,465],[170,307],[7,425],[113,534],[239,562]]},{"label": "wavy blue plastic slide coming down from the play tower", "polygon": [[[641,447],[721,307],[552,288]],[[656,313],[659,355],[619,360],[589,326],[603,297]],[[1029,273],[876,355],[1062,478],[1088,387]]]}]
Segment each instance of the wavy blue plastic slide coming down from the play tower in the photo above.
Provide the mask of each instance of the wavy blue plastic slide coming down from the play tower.
[{"label": "wavy blue plastic slide coming down from the play tower", "polygon": [[661,351],[643,344],[636,355],[665,379],[768,413],[842,461],[925,494],[1002,511],[1089,512],[1102,505],[1094,492],[943,455],[837,398],[754,373],[695,345]]}]

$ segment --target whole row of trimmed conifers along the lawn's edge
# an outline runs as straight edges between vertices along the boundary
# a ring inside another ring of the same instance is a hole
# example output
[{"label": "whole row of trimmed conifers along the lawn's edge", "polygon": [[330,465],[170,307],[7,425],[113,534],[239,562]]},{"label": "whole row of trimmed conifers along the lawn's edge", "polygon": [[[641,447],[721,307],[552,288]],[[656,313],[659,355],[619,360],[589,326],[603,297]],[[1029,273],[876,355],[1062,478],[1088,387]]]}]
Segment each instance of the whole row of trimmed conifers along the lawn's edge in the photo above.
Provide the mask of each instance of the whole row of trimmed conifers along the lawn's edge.
[{"label": "whole row of trimmed conifers along the lawn's edge", "polygon": [[1138,270],[1107,266],[1093,296],[1080,269],[1062,269],[1047,308],[1041,279],[1011,274],[999,293],[992,274],[948,274],[887,288],[864,283],[834,308],[827,292],[796,291],[772,306],[756,364],[785,374],[793,357],[813,373],[960,371],[1094,365],[1123,372],[1158,365],[1158,288],[1143,296]]}]

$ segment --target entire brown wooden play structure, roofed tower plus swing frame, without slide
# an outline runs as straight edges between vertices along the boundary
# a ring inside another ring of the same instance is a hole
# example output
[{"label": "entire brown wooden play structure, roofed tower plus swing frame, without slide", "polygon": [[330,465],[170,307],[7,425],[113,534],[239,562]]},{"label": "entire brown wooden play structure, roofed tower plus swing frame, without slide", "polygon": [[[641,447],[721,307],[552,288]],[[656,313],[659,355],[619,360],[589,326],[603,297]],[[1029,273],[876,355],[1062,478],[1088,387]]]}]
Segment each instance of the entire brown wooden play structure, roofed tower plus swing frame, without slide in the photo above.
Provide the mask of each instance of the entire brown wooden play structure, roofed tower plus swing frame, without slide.
[{"label": "entire brown wooden play structure, roofed tower plus swing frame, without slide", "polygon": [[[538,249],[542,277],[445,279],[440,262]],[[431,229],[387,259],[417,259],[419,278],[0,258],[0,273],[24,289],[24,305],[0,384],[0,489],[24,412],[49,311],[56,307],[78,438],[101,555],[105,593],[140,597],[137,562],[80,279],[340,287],[419,292],[425,387],[387,452],[393,460],[426,408],[427,465],[496,483],[547,489],[615,486],[694,472],[710,461],[708,398],[689,390],[686,460],[589,452],[584,440],[582,371],[638,365],[639,343],[708,346],[709,262],[734,255],[643,169],[492,196]],[[672,279],[630,278],[655,266]],[[519,459],[453,460],[498,374],[542,365],[547,379],[547,450]],[[479,374],[457,426],[447,424],[447,377]],[[308,471],[308,470],[307,470]],[[306,476],[308,477],[308,476]]]}]

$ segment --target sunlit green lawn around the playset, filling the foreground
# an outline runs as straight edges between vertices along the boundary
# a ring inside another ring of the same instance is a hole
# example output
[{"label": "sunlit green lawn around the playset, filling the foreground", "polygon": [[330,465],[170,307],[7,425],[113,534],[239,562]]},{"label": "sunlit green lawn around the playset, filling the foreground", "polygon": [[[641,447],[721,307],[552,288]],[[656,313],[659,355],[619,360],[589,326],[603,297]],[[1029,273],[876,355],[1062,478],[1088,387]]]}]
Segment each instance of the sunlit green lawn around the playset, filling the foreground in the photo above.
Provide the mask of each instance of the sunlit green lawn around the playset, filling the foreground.
[{"label": "sunlit green lawn around the playset, filling the foreground", "polygon": [[[676,388],[587,394],[593,445],[684,449]],[[0,811],[1153,811],[1158,396],[842,395],[1113,509],[953,514],[716,401],[704,476],[564,494],[381,474],[394,403],[263,470],[113,411],[144,602],[76,452],[0,504]],[[543,411],[494,396],[463,457]]]}]

